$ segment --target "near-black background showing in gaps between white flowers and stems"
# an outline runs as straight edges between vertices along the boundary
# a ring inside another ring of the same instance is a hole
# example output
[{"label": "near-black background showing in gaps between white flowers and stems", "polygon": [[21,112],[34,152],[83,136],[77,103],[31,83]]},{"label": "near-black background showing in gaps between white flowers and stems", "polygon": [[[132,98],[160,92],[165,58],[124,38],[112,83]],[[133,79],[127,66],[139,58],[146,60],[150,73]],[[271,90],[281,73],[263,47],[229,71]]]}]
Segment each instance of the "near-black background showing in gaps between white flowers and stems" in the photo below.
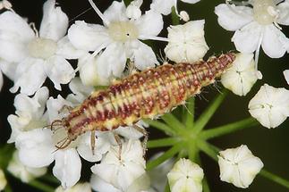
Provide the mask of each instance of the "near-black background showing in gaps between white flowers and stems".
[{"label": "near-black background showing in gaps between white flowers and stems", "polygon": [[[19,13],[22,17],[27,17],[30,22],[35,22],[37,28],[39,27],[42,18],[42,4],[45,1],[40,0],[13,0],[13,9],[16,13]],[[91,23],[101,23],[98,15],[94,13],[90,8],[88,1],[81,0],[61,0],[56,1],[62,7],[64,13],[69,17],[70,24],[75,20],[84,20]],[[112,1],[99,0],[96,1],[98,8],[104,12]],[[145,4],[142,6],[144,10],[149,7],[150,1],[144,0]],[[234,44],[231,43],[231,38],[233,37],[233,32],[226,31],[222,29],[217,24],[217,15],[214,14],[214,7],[217,4],[224,3],[223,1],[211,1],[211,0],[201,0],[197,4],[184,4],[179,2],[179,11],[186,10],[190,16],[191,20],[205,19],[205,37],[210,47],[208,57],[211,54],[225,53],[230,50],[234,50]],[[86,13],[83,13],[87,11]],[[81,14],[83,13],[83,14]],[[81,15],[80,15],[81,14]],[[166,27],[171,22],[170,16],[165,17]],[[166,27],[160,34],[162,37],[166,37]],[[287,37],[289,37],[289,28],[283,27],[283,32]],[[153,42],[154,49],[156,53],[159,53],[159,49],[163,49],[166,44]],[[289,69],[289,56],[285,54],[284,57],[280,59],[271,59],[267,55],[263,54],[261,51],[259,55],[259,71],[263,74],[263,79],[259,80],[256,85],[252,88],[251,92],[245,96],[234,96],[232,93],[225,99],[224,104],[217,110],[217,113],[213,117],[212,121],[209,122],[208,128],[216,127],[217,125],[222,125],[225,123],[239,121],[243,118],[249,117],[250,113],[247,110],[247,106],[251,97],[254,96],[259,87],[264,83],[279,88],[289,88],[285,83],[285,79],[282,71]],[[47,82],[48,87],[53,88],[51,83]],[[221,87],[221,84],[218,84]],[[10,127],[7,122],[7,116],[15,112],[13,108],[13,97],[14,95],[9,92],[9,88],[13,86],[13,82],[7,78],[4,78],[4,87],[0,93],[0,144],[4,145],[6,140],[10,136]],[[54,92],[53,95],[57,95]],[[200,114],[203,109],[208,106],[208,102],[217,96],[217,88],[205,88],[205,91],[200,97],[196,97],[196,115]],[[289,123],[285,121],[281,126],[276,129],[267,129],[261,126],[244,129],[235,132],[231,135],[217,138],[212,140],[212,144],[220,148],[236,147],[242,144],[249,146],[252,153],[259,156],[262,162],[265,164],[265,168],[268,171],[272,171],[279,176],[289,179]],[[159,133],[155,129],[149,129],[149,137],[156,138]],[[0,157],[1,158],[1,157]],[[275,192],[285,192],[288,189],[283,188],[276,183],[264,179],[258,176],[254,182],[251,184],[250,188],[241,189],[234,188],[233,185],[227,184],[219,180],[219,171],[217,163],[209,159],[205,154],[201,154],[202,168],[205,171],[205,175],[208,178],[208,184],[211,191],[275,191]],[[84,166],[82,169],[84,172],[89,171],[89,165]],[[87,170],[87,171],[86,171]],[[85,173],[84,173],[85,174]],[[89,173],[90,174],[90,173]],[[89,174],[83,177],[83,179],[88,179]],[[37,191],[34,188],[27,187],[21,184],[17,179],[8,176],[9,182],[13,187],[13,191]]]}]

